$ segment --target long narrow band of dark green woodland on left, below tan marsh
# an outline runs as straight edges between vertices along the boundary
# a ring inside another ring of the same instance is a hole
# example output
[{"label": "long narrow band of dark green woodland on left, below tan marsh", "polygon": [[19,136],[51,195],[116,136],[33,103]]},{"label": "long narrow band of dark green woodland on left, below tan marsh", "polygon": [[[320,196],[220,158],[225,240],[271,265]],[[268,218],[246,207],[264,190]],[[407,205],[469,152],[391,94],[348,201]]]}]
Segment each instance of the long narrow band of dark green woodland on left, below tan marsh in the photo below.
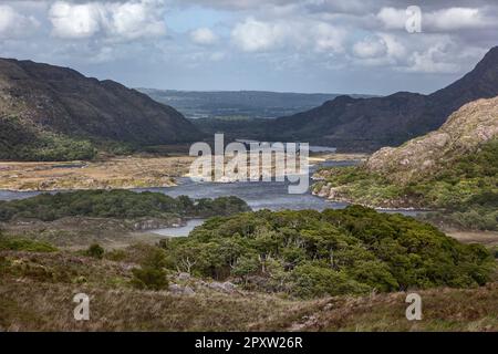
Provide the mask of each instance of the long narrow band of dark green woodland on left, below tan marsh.
[{"label": "long narrow band of dark green woodland on left, below tan marsh", "polygon": [[186,196],[172,198],[159,192],[129,190],[80,190],[42,194],[29,199],[0,201],[0,221],[34,218],[52,221],[63,217],[97,218],[141,217],[211,217],[248,211],[246,201],[237,197],[193,200]]}]

